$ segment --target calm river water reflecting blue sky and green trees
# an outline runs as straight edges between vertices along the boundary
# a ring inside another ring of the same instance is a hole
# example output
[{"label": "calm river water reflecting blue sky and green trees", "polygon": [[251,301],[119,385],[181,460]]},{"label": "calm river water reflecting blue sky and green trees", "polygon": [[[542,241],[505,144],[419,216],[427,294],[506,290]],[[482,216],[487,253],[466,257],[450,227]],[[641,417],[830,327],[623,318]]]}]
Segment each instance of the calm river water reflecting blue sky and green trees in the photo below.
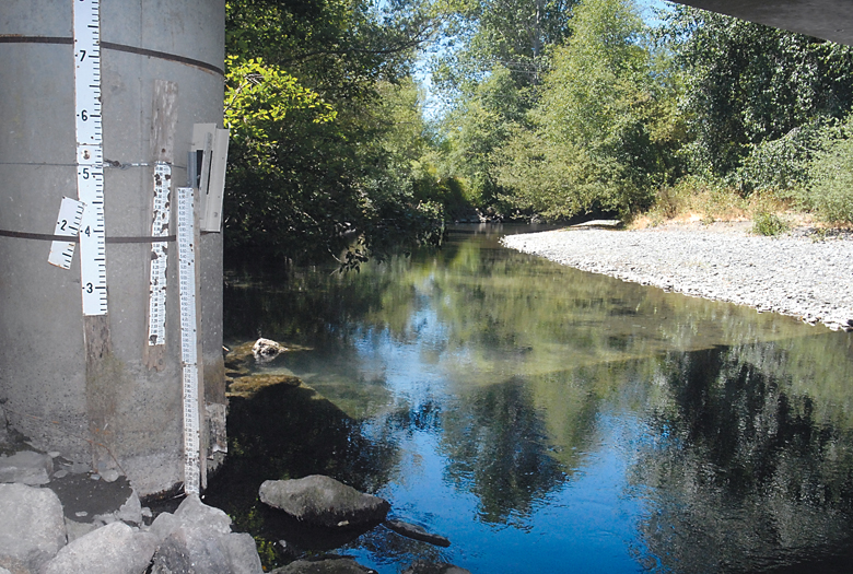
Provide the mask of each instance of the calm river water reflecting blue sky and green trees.
[{"label": "calm river water reflecting blue sky and green trees", "polygon": [[[454,229],[440,250],[359,273],[231,272],[226,342],[294,345],[255,368],[307,386],[232,400],[208,502],[271,565],[329,550],[383,574],[419,559],[475,574],[851,572],[853,336],[498,244],[527,231]],[[452,546],[273,525],[260,482],[311,473]]]}]

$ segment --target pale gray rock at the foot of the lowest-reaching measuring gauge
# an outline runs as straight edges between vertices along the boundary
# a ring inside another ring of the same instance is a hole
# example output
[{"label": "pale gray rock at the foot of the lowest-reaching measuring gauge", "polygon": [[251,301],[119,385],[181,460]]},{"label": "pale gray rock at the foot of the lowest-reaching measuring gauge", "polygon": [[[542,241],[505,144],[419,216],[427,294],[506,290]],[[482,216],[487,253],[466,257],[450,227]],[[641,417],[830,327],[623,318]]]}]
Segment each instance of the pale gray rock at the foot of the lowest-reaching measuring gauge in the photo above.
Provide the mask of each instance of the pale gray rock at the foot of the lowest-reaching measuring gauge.
[{"label": "pale gray rock at the foot of the lowest-reaching measuring gauge", "polygon": [[231,518],[187,496],[175,514],[163,513],[149,531],[161,541],[152,574],[261,574],[255,539],[232,534]]}]

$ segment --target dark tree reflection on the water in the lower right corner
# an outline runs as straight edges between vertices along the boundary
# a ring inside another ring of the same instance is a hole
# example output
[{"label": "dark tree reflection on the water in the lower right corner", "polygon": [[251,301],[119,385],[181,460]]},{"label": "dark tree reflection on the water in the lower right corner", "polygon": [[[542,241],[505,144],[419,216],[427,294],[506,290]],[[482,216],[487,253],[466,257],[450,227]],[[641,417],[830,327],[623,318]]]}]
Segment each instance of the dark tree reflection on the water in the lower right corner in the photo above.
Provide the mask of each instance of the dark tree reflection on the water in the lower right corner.
[{"label": "dark tree reflection on the water in the lower right corner", "polygon": [[642,538],[667,569],[850,571],[853,433],[748,361],[767,347],[663,360],[667,400],[633,481],[648,489]]}]

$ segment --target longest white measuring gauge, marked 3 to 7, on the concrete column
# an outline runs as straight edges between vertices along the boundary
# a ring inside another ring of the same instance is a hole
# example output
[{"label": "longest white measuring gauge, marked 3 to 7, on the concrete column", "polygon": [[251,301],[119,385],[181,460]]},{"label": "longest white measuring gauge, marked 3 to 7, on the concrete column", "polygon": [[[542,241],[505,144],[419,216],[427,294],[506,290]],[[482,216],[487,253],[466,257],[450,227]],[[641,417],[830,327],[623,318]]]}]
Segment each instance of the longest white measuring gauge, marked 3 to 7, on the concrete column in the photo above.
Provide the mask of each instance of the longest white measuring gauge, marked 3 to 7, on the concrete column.
[{"label": "longest white measuring gauge, marked 3 to 7, on the concrete column", "polygon": [[77,190],[78,199],[85,203],[80,223],[83,315],[106,315],[101,4],[100,0],[75,0],[73,5]]}]

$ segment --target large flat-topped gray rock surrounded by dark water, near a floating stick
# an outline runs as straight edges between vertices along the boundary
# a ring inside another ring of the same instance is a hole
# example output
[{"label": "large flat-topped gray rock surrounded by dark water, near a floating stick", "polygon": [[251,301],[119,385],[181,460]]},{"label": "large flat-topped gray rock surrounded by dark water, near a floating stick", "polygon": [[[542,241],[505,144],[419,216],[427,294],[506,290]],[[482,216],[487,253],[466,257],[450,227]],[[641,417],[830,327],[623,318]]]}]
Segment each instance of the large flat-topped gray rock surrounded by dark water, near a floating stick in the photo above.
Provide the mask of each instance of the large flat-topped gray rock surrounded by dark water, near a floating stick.
[{"label": "large flat-topped gray rock surrounded by dark water, near a floating stick", "polygon": [[337,480],[312,475],[294,480],[267,480],[260,501],[299,520],[329,527],[381,523],[390,509],[384,499],[364,494]]}]

